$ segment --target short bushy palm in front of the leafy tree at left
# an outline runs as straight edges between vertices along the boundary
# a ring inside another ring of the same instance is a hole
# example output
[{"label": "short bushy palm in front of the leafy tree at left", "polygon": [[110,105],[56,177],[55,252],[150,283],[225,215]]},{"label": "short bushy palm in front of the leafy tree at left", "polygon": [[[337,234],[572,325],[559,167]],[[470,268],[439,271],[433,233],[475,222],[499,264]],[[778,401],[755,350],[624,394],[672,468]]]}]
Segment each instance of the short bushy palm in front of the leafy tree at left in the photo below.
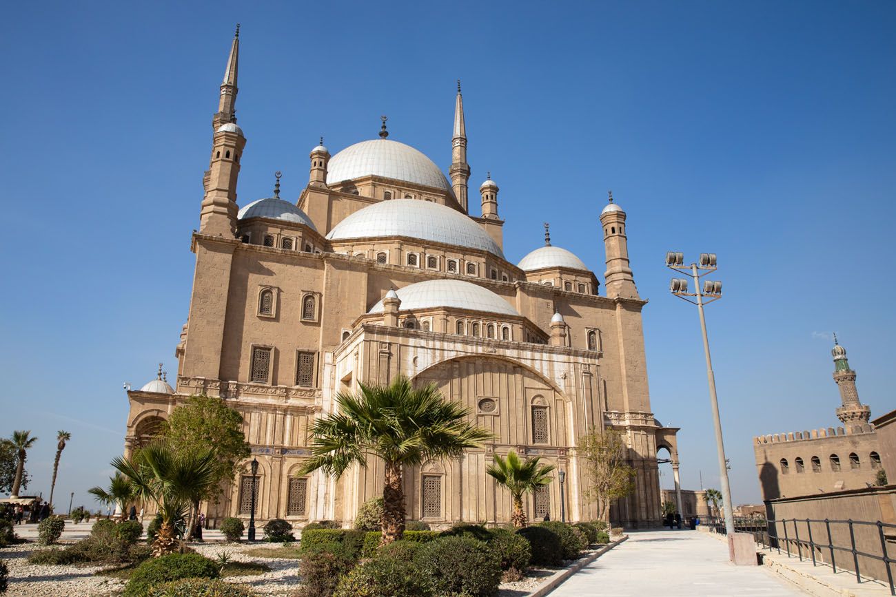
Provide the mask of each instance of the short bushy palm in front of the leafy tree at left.
[{"label": "short bushy palm in front of the leafy tree at left", "polygon": [[177,521],[186,516],[195,496],[211,488],[217,465],[211,448],[178,452],[164,439],[153,441],[131,458],[112,460],[112,466],[133,484],[134,498],[155,503],[161,516],[152,555],[177,550]]}]

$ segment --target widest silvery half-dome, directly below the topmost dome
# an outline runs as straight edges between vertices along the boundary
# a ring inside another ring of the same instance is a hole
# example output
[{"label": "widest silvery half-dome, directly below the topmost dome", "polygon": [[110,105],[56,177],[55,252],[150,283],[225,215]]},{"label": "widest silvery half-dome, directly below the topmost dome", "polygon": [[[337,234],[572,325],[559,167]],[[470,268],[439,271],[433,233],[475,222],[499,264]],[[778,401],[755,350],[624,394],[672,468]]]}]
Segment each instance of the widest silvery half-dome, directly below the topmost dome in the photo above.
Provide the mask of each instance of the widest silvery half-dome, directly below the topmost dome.
[{"label": "widest silvery half-dome, directly below the topmost dome", "polygon": [[327,238],[408,236],[423,241],[479,249],[504,259],[501,247],[476,222],[456,209],[419,199],[380,201],[346,217]]}]

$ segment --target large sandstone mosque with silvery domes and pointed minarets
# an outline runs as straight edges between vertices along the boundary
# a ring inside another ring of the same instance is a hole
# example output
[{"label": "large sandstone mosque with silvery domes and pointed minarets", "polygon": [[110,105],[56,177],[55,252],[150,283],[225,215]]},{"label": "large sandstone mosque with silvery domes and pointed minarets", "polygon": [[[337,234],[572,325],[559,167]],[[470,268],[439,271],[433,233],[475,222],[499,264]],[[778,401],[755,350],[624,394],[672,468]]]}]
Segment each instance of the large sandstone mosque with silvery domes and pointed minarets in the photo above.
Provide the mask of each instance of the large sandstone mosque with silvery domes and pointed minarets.
[{"label": "large sandstone mosque with silvery domes and pointed minarets", "polygon": [[530,519],[560,519],[561,508],[567,520],[593,519],[576,443],[591,428],[615,428],[625,433],[636,477],[611,518],[658,525],[657,452],[668,450],[677,487],[677,429],[650,410],[647,301],[629,267],[625,211],[612,195],[599,213],[603,288],[581,259],[550,243],[547,225],[545,245],[514,264],[504,255],[499,188],[490,176],[478,187],[481,213],[470,213],[459,83],[447,177],[423,153],[390,139],[383,118],[376,139],[334,154],[323,140],[311,149],[297,200],[280,197],[278,175],[272,197],[237,203],[246,148],[235,117],[238,58],[237,29],[212,117],[177,376],[173,388],[159,371],[159,379],[128,391],[125,454],[185,397],[221,397],[243,414],[259,467],[253,483],[246,462],[220,503],[203,507],[212,524],[248,518],[254,486],[260,520],[350,525],[362,503],[382,495],[382,465],[372,460],[340,479],[299,476],[309,429],[332,413],[340,391],[404,375],[435,383],[496,436],[460,458],[405,471],[409,519],[434,528],[509,522],[509,495],[486,466],[512,449],[563,472],[530,496]]}]

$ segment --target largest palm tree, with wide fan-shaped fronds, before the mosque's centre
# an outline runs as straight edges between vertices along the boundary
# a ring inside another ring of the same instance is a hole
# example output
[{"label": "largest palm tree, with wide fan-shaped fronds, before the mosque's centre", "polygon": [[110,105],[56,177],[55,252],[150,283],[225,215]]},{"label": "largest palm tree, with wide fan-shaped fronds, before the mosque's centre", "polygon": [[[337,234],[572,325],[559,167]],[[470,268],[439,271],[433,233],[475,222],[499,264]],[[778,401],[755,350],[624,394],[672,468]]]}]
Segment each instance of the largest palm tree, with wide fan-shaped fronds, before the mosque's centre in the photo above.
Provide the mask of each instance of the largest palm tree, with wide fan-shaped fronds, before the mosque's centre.
[{"label": "largest palm tree, with wide fan-shaped fronds, before the mosque's centre", "polygon": [[366,466],[368,454],[382,458],[384,545],[404,533],[405,466],[461,456],[494,436],[467,422],[468,410],[446,400],[435,384],[415,389],[399,376],[389,386],[359,385],[357,396],[336,396],[339,412],[314,422],[312,457],[299,474],[323,469],[340,477],[351,465]]}]

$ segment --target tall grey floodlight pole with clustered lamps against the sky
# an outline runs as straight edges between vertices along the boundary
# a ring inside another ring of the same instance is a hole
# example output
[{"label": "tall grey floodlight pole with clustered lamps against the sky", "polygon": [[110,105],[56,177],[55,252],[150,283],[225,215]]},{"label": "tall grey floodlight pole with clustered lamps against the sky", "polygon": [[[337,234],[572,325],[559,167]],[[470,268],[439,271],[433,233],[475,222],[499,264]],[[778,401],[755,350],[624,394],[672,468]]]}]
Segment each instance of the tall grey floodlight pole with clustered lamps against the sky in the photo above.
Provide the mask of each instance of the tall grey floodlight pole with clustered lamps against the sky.
[{"label": "tall grey floodlight pole with clustered lamps against the sky", "polygon": [[[703,305],[718,301],[722,297],[722,283],[713,280],[703,280],[701,287],[700,278],[711,274],[716,270],[717,260],[715,253],[701,253],[698,263],[685,265],[685,254],[680,252],[666,253],[666,266],[678,272],[690,274],[694,280],[694,292],[688,292],[688,281],[685,277],[674,277],[669,284],[669,291],[688,303],[697,305],[700,312],[700,328],[703,332],[703,352],[706,354],[706,377],[710,383],[710,402],[712,405],[712,419],[716,427],[716,446],[719,448],[719,479],[722,486],[722,504],[725,507],[725,531],[728,533],[728,545],[734,540],[734,509],[731,507],[731,489],[728,486],[728,459],[725,457],[725,443],[722,440],[722,423],[719,419],[719,398],[716,397],[716,378],[712,373],[712,360],[710,358],[710,339],[706,335],[706,316],[703,314]],[[700,271],[703,273],[701,274]],[[697,300],[692,301],[689,296]],[[704,301],[703,297],[709,300]],[[733,554],[734,552],[731,551]]]}]

